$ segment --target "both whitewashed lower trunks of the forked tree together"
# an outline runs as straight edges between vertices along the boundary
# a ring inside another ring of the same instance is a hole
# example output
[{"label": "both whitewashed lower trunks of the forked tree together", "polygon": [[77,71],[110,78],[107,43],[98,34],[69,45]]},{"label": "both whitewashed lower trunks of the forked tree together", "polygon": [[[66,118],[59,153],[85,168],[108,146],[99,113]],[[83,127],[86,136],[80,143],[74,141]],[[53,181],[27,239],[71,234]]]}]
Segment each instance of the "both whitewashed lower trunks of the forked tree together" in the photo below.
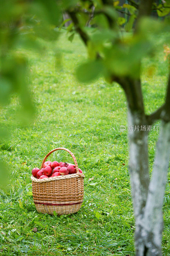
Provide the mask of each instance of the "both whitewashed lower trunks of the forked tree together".
[{"label": "both whitewashed lower trunks of the forked tree together", "polygon": [[[135,215],[136,256],[160,256],[163,230],[162,204],[170,157],[170,122],[162,122],[149,179],[148,132],[145,117],[128,110],[129,171]],[[133,131],[131,131],[133,126]]]}]

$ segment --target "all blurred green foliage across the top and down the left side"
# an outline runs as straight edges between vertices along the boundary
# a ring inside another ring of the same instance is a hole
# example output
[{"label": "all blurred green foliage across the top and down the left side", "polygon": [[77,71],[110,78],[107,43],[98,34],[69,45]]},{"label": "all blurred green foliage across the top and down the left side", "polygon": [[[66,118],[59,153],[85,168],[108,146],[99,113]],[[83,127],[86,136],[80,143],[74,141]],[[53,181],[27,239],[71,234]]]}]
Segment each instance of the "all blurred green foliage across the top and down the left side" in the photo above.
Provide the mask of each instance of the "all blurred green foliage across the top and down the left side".
[{"label": "all blurred green foliage across the top and down the left side", "polygon": [[[0,109],[16,100],[15,119],[21,124],[33,120],[35,104],[30,91],[29,64],[23,49],[42,53],[40,39],[51,41],[53,45],[61,28],[66,30],[70,42],[77,32],[83,40],[86,38],[89,60],[76,71],[78,80],[83,83],[100,75],[107,81],[115,75],[138,78],[142,58],[153,56],[160,46],[169,44],[170,1],[154,3],[152,9],[160,18],[141,19],[135,34],[138,4],[103,3],[100,0],[0,0]],[[65,27],[70,19],[64,21],[63,12],[74,15],[74,24],[71,22]],[[86,27],[89,19],[91,28]],[[162,33],[167,36],[161,37]],[[160,37],[163,40],[159,40]],[[54,65],[58,67],[62,56],[56,48],[54,54]],[[12,118],[14,115],[6,116],[6,119]],[[8,130],[7,124],[0,127],[0,139],[10,134]]]}]

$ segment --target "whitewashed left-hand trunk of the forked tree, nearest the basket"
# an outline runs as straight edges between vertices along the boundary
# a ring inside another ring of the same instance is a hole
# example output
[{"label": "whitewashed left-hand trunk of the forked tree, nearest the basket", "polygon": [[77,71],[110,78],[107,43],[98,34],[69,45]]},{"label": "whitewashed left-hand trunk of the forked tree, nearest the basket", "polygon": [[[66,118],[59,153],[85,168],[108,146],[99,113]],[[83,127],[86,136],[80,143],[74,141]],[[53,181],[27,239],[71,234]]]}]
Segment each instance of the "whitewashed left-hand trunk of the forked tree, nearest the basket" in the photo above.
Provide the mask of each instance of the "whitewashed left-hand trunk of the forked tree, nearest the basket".
[{"label": "whitewashed left-hand trunk of the forked tree, nearest the basket", "polygon": [[144,255],[139,253],[144,251],[141,224],[149,187],[148,132],[141,131],[141,126],[143,128],[145,122],[143,114],[131,112],[128,109],[129,172],[135,215],[135,247],[137,256]]}]

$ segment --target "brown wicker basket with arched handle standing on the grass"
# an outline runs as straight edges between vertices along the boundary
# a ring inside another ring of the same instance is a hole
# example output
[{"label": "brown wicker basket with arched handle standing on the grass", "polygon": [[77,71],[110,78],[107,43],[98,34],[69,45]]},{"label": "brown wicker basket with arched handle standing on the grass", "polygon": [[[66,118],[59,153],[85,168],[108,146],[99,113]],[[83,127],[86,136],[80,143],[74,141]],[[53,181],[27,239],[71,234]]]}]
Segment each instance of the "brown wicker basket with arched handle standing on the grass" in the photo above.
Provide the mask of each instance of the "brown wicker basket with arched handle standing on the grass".
[{"label": "brown wicker basket with arched handle standing on the grass", "polygon": [[74,160],[77,173],[49,177],[46,179],[37,179],[31,176],[33,201],[38,212],[53,214],[69,214],[78,212],[84,196],[84,177],[79,173],[76,157],[67,148],[55,148],[51,150],[44,158],[41,164],[46,161],[47,157],[56,150],[63,149],[70,153]]}]

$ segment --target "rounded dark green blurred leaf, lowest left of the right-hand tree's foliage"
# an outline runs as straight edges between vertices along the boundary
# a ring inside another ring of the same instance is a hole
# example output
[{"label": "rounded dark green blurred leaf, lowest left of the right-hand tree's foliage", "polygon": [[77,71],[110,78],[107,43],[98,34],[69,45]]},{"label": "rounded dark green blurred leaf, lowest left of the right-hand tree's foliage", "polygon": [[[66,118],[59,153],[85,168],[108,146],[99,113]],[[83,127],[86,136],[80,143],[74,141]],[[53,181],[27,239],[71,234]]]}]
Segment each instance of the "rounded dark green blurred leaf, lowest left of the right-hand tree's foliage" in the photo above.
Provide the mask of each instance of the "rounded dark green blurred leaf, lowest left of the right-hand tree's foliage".
[{"label": "rounded dark green blurred leaf, lowest left of the right-hand tree's foliage", "polygon": [[88,83],[97,79],[103,69],[99,60],[87,61],[77,68],[76,76],[81,83]]}]

